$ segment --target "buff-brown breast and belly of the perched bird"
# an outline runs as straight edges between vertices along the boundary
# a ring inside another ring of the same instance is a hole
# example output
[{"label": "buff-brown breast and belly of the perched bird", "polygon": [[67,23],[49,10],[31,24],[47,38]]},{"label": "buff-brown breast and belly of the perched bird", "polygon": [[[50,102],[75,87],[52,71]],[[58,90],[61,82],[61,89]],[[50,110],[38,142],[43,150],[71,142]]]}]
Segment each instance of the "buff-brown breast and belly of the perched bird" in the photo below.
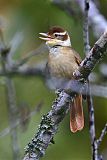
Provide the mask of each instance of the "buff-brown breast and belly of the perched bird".
[{"label": "buff-brown breast and belly of the perched bird", "polygon": [[52,76],[67,79],[72,79],[73,72],[78,69],[74,56],[62,53],[58,53],[57,56],[50,54],[48,66]]}]

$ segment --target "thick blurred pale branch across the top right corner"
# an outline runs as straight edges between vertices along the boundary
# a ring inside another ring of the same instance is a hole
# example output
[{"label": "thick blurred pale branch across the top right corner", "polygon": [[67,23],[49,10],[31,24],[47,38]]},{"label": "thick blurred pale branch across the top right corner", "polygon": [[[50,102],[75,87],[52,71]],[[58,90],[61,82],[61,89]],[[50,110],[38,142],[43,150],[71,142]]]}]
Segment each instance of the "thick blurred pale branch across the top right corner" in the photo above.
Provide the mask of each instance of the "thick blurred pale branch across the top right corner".
[{"label": "thick blurred pale branch across the top right corner", "polygon": [[[81,11],[84,14],[84,0],[52,0],[52,3],[63,9],[68,15],[72,16],[76,11],[74,11],[71,3],[77,3],[77,6],[80,6]],[[77,7],[75,7],[77,8]],[[72,16],[74,17],[74,16]],[[93,34],[96,38],[99,38],[101,34],[107,28],[107,20],[100,13],[98,8],[96,7],[94,1],[90,0],[90,10],[89,10],[89,24],[92,26]]]}]

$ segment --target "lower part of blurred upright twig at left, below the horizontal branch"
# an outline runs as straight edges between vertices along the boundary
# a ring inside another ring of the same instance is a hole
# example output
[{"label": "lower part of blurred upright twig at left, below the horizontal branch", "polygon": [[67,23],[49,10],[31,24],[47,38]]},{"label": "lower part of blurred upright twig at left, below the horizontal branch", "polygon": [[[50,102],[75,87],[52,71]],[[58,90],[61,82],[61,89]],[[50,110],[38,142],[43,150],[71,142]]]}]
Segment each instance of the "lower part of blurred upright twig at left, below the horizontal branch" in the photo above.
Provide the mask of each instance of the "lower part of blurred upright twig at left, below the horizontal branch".
[{"label": "lower part of blurred upright twig at left, below the horizontal branch", "polygon": [[12,141],[12,150],[13,150],[13,159],[20,159],[20,147],[18,142],[18,134],[17,127],[15,123],[17,121],[17,109],[16,109],[16,97],[15,97],[15,88],[13,81],[5,76],[6,79],[6,93],[7,93],[7,107],[8,107],[8,116],[9,116],[9,124],[10,124],[10,135]]}]

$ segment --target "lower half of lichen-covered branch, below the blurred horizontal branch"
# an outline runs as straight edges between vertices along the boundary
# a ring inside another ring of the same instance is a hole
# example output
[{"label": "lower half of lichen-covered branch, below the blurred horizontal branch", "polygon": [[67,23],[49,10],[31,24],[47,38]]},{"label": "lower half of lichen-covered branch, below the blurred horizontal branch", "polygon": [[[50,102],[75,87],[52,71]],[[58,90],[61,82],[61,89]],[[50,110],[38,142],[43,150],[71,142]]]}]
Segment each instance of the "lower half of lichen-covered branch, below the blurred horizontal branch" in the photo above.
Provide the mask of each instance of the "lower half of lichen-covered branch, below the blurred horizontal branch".
[{"label": "lower half of lichen-covered branch, below the blurred horizontal branch", "polygon": [[70,96],[64,91],[59,91],[58,97],[52,105],[52,109],[47,115],[42,117],[37,134],[26,147],[27,155],[24,157],[24,160],[27,158],[30,160],[39,159],[45,154],[48,145],[54,143],[53,136],[56,134],[59,123],[63,120],[69,109],[69,101]]}]

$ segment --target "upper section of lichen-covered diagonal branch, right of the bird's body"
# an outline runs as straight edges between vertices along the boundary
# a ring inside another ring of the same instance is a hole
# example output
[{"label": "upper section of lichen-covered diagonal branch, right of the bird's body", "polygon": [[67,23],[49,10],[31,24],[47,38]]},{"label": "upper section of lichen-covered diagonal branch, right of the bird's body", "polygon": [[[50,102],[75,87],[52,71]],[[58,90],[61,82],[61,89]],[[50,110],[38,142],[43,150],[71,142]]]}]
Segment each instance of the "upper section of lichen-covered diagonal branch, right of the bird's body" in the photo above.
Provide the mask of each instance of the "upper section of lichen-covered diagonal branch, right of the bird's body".
[{"label": "upper section of lichen-covered diagonal branch, right of the bird's body", "polygon": [[103,58],[107,52],[107,32],[98,39],[90,50],[88,56],[82,61],[79,71],[76,71],[74,75],[79,79],[86,79],[91,73],[95,65]]}]

